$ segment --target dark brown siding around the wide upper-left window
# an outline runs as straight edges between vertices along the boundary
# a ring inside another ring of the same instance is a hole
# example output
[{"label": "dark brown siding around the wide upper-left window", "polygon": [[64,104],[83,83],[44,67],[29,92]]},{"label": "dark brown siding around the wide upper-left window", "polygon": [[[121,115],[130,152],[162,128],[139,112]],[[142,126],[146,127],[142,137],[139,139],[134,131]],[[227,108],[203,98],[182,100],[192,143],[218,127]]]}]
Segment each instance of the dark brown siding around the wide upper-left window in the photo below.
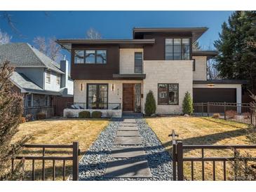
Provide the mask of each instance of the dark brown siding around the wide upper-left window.
[{"label": "dark brown siding around the wide upper-left window", "polygon": [[[74,50],[107,50],[107,64],[74,64]],[[76,80],[112,80],[113,74],[119,74],[118,45],[72,45],[71,78]]]}]

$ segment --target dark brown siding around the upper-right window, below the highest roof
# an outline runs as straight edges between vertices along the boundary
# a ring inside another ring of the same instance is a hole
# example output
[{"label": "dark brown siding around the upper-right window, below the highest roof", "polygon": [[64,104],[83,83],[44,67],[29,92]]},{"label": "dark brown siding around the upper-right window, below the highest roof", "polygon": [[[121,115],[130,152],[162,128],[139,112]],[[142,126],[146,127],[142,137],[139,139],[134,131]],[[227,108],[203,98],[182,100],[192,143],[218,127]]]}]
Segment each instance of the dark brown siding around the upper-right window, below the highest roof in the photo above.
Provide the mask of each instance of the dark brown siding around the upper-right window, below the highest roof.
[{"label": "dark brown siding around the upper-right window, below the highest roof", "polygon": [[[153,46],[144,46],[144,60],[165,60],[166,38],[190,38],[191,45],[191,35],[189,34],[144,34],[144,39],[155,39]],[[190,53],[191,51],[192,46],[190,46]]]}]

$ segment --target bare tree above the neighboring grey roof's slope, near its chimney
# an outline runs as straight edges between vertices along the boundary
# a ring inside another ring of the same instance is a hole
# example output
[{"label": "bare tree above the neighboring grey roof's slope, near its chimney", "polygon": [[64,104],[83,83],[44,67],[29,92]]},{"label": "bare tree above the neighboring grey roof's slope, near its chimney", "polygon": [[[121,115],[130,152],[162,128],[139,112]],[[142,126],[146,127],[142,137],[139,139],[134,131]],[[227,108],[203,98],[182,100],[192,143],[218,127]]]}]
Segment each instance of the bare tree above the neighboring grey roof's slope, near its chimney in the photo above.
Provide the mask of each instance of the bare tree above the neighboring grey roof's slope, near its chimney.
[{"label": "bare tree above the neighboring grey roof's slope, near its chimney", "polygon": [[60,53],[61,48],[55,41],[55,37],[50,37],[48,38],[48,41],[46,41],[45,37],[42,36],[36,36],[33,40],[34,46],[41,51],[41,53],[50,57],[51,60],[59,62],[62,57],[62,54]]}]

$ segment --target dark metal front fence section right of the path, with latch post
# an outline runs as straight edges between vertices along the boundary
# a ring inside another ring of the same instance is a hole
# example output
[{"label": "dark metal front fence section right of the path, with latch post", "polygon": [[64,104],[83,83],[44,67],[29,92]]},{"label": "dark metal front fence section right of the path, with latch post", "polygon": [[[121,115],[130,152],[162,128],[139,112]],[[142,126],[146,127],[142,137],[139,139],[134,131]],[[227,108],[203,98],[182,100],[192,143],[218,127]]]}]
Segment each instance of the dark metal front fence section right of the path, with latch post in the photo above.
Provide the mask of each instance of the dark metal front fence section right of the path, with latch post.
[{"label": "dark metal front fence section right of the path, with latch post", "polygon": [[[256,157],[242,158],[237,157],[237,149],[256,149],[256,145],[184,145],[182,140],[177,140],[177,134],[172,130],[172,134],[169,135],[172,138],[173,144],[173,180],[183,181],[184,177],[184,163],[190,162],[191,167],[191,181],[194,181],[194,163],[201,162],[201,180],[205,180],[205,163],[213,163],[213,181],[216,180],[216,162],[222,162],[223,179],[227,180],[227,162],[234,162],[235,160],[256,160]],[[184,157],[184,150],[186,149],[201,149],[201,157]],[[221,150],[232,149],[234,150],[234,156],[226,157],[206,157],[205,149]]]}]

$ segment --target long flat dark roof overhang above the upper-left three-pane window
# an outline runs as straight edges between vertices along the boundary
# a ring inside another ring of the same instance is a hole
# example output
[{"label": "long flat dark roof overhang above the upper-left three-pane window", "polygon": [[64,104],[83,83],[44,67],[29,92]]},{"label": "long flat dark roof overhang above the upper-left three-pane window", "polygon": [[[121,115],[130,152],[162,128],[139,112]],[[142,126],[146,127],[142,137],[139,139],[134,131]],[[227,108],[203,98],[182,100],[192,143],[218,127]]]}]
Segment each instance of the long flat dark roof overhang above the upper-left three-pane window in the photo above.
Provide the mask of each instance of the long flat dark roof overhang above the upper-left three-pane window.
[{"label": "long flat dark roof overhang above the upper-left three-pane window", "polygon": [[71,50],[72,44],[84,45],[119,45],[121,48],[142,47],[154,44],[154,39],[58,39],[57,43],[67,50]]}]

